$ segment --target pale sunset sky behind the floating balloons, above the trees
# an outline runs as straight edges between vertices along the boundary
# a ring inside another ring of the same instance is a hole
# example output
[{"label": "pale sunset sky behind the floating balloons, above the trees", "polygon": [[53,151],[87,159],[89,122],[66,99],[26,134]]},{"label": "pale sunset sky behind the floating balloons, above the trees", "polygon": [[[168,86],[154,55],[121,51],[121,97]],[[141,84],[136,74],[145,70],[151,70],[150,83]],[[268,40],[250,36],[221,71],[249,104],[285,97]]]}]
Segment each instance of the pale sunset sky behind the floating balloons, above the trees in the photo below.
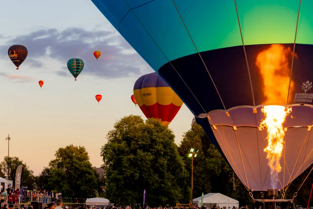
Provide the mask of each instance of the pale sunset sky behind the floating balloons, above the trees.
[{"label": "pale sunset sky behind the floating balloons, above the trees", "polygon": [[[146,117],[131,102],[133,85],[154,72],[90,0],[15,0],[0,7],[0,160],[23,160],[35,175],[60,147],[84,146],[100,167],[106,134],[120,118]],[[8,48],[24,45],[28,56],[16,70]],[[101,51],[97,61],[93,52]],[[85,67],[74,81],[71,58]],[[38,81],[43,80],[40,88]],[[95,95],[103,96],[100,103]],[[169,128],[179,144],[193,115],[183,105]]]}]

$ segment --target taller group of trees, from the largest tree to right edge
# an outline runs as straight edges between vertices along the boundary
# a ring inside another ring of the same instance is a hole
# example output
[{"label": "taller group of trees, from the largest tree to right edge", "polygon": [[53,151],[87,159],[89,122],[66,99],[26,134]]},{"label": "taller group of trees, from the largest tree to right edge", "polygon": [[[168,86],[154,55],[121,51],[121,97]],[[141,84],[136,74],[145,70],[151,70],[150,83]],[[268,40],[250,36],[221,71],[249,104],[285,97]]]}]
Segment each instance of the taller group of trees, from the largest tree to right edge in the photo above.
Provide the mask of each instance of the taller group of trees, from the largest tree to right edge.
[{"label": "taller group of trees, from the largest tree to right edge", "polygon": [[[193,148],[199,149],[193,161],[193,198],[202,192],[219,192],[238,200],[241,206],[252,203],[249,192],[201,126],[193,125],[178,146],[174,138],[172,130],[154,118],[144,121],[140,116],[130,115],[117,121],[107,135],[108,143],[101,149],[104,196],[116,204],[129,205],[142,202],[146,189],[145,205],[188,204],[191,192],[188,154]],[[285,198],[293,197],[305,173],[290,185]],[[307,204],[312,182],[309,176],[294,199],[296,204]],[[253,195],[261,199],[260,192]]]}]

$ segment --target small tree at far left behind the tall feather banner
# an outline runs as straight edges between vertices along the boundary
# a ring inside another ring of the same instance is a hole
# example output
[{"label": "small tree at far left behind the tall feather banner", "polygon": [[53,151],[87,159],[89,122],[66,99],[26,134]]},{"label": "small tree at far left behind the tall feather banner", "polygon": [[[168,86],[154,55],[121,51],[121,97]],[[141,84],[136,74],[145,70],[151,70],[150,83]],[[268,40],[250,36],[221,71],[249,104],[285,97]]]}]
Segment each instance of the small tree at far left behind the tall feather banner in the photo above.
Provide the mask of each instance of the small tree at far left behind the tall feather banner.
[{"label": "small tree at far left behind the tall feather banner", "polygon": [[18,157],[4,157],[3,161],[0,163],[1,173],[4,175],[5,179],[13,180],[13,186],[15,186],[15,171],[17,166],[21,163],[23,164],[21,186],[33,189],[34,172],[30,170],[26,163],[23,163],[23,160],[18,159]]}]

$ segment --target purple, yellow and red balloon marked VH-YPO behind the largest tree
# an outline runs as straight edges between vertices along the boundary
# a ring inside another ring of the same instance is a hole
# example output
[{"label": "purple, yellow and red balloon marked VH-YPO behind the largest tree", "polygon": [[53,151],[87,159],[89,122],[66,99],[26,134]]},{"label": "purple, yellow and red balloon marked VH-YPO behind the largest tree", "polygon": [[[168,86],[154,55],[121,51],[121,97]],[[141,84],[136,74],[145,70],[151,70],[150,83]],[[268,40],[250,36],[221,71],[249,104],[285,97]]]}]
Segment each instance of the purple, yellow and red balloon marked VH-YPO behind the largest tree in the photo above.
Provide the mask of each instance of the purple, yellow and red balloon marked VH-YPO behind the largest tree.
[{"label": "purple, yellow and red balloon marked VH-YPO behind the largest tree", "polygon": [[171,123],[183,104],[171,87],[155,72],[137,79],[134,96],[143,114],[147,118],[160,118],[163,125]]}]

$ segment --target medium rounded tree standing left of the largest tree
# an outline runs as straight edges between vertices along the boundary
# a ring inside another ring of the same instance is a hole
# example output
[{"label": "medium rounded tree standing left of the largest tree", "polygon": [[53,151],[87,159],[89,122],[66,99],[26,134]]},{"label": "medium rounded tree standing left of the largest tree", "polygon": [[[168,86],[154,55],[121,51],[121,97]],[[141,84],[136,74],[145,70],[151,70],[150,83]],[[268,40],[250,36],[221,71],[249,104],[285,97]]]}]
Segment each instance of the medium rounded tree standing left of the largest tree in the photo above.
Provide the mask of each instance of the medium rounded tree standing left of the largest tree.
[{"label": "medium rounded tree standing left of the largest tree", "polygon": [[49,163],[49,185],[67,197],[91,197],[97,189],[97,173],[85,147],[59,148]]}]

